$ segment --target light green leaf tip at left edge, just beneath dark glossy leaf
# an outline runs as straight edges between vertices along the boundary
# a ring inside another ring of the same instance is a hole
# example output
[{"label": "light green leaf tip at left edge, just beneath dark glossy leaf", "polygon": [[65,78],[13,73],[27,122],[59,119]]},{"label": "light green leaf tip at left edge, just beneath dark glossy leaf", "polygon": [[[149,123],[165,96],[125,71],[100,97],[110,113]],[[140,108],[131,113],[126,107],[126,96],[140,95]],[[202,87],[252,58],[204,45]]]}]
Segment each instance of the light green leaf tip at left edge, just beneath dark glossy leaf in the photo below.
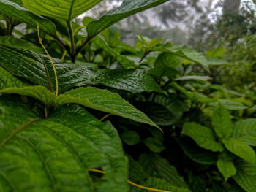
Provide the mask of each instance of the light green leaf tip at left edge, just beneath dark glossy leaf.
[{"label": "light green leaf tip at left edge, just beneath dark glossy leaf", "polygon": [[23,82],[22,80],[14,77],[7,70],[0,66],[0,89],[2,88],[22,88],[28,86],[29,83]]}]

